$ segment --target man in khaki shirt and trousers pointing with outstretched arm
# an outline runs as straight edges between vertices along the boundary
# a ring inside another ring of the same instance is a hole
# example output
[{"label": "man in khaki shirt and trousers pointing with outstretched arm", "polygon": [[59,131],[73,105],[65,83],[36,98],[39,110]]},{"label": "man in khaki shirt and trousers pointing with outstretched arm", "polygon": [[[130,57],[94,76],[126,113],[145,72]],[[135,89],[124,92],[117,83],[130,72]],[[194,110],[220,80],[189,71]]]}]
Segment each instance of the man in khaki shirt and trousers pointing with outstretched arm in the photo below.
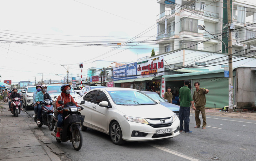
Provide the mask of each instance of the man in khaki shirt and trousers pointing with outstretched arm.
[{"label": "man in khaki shirt and trousers pointing with outstretched arm", "polygon": [[204,105],[206,104],[206,94],[209,92],[208,89],[200,88],[200,83],[195,82],[194,86],[196,88],[194,95],[193,95],[193,103],[195,104],[196,110],[195,110],[195,118],[196,118],[196,126],[195,128],[200,127],[201,120],[199,118],[199,114],[201,111],[202,118],[203,118],[203,129],[206,129],[206,110],[204,108]]}]

